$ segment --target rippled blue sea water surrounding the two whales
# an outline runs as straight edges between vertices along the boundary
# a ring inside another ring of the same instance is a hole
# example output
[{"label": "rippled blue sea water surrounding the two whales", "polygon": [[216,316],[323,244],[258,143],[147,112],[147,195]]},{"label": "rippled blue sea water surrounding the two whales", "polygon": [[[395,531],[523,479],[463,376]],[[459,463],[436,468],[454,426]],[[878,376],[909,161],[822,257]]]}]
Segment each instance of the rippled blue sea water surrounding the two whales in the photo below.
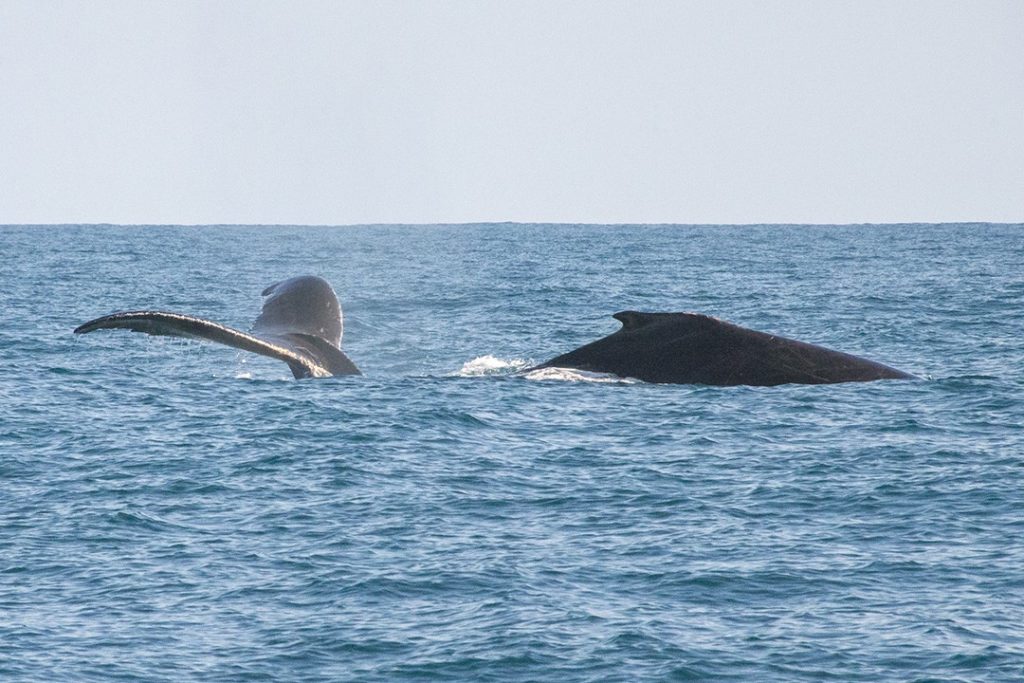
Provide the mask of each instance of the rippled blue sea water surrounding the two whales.
[{"label": "rippled blue sea water surrounding the two whales", "polygon": [[[0,227],[0,680],[1024,680],[1024,226]],[[312,273],[365,376],[246,329]],[[921,379],[523,377],[694,310]]]}]

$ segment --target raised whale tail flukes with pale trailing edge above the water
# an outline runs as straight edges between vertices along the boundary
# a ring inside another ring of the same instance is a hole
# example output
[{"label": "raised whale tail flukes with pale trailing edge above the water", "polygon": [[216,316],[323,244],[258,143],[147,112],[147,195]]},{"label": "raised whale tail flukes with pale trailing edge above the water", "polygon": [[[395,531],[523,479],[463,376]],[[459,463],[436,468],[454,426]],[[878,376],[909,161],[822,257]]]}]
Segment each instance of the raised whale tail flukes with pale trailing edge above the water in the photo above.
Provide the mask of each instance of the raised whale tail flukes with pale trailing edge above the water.
[{"label": "raised whale tail flukes with pale trailing edge above the water", "polygon": [[75,334],[124,329],[206,339],[284,360],[296,379],[360,374],[341,350],[341,305],[326,280],[292,278],[267,287],[263,296],[263,310],[251,333],[182,313],[131,310],[89,321],[76,328]]}]

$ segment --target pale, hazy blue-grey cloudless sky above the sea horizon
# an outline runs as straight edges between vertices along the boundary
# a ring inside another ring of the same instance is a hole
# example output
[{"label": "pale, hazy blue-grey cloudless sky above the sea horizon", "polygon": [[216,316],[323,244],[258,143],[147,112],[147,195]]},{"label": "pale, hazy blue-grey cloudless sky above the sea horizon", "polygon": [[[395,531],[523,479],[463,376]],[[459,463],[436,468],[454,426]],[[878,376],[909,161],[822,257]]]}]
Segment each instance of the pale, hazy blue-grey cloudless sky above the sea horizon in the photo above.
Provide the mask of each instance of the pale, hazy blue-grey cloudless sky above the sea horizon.
[{"label": "pale, hazy blue-grey cloudless sky above the sea horizon", "polygon": [[0,0],[0,223],[1024,221],[1020,0]]}]

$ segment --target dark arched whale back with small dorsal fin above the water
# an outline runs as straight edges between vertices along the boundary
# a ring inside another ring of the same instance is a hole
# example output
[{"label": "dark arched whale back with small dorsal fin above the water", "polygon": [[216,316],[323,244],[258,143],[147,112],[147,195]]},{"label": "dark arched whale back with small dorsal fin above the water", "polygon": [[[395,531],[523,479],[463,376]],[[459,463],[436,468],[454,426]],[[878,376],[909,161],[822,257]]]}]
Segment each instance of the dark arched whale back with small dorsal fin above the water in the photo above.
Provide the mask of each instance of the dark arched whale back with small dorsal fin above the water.
[{"label": "dark arched whale back with small dorsal fin above the water", "polygon": [[538,366],[663,384],[833,384],[911,379],[873,360],[698,313],[615,313],[617,332]]}]

